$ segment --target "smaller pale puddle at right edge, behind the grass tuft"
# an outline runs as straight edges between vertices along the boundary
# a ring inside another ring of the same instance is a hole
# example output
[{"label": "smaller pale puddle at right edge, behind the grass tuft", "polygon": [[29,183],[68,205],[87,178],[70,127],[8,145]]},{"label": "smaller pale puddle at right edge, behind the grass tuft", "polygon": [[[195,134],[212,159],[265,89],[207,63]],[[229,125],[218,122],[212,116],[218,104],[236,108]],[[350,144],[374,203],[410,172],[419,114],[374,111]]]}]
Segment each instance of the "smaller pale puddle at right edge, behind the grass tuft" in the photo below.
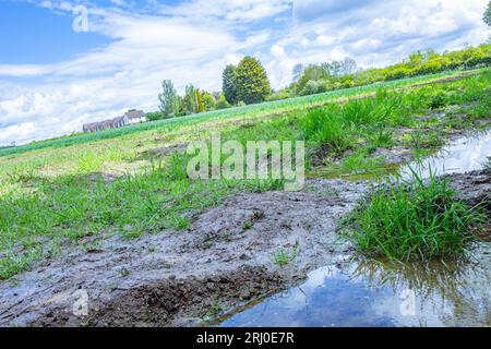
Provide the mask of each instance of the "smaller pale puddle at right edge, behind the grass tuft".
[{"label": "smaller pale puddle at right edge, behind the grass tuft", "polygon": [[491,131],[462,137],[439,151],[435,155],[404,167],[399,173],[403,179],[412,178],[409,167],[421,172],[422,178],[430,177],[430,169],[435,176],[464,173],[480,170],[491,157]]}]

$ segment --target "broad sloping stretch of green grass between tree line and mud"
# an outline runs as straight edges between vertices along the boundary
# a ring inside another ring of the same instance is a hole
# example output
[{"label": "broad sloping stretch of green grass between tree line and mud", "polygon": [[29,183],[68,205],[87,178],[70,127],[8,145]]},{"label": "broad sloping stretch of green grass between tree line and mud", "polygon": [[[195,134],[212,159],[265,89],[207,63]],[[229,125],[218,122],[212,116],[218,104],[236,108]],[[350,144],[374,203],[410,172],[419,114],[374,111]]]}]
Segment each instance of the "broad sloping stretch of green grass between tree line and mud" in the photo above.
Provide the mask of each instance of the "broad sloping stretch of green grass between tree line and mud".
[{"label": "broad sloping stretch of green grass between tree line and mud", "polygon": [[[108,131],[111,137],[106,140],[104,133],[96,133],[83,135],[74,145],[68,144],[76,137],[53,147],[47,142],[47,147],[39,145],[32,152],[19,148],[17,154],[0,157],[0,279],[28,268],[34,261],[56,257],[62,253],[60,246],[79,245],[81,238],[97,240],[119,233],[131,239],[164,229],[185,229],[192,224],[192,213],[218,205],[227,195],[283,189],[284,181],[273,179],[192,181],[185,176],[188,157],[173,152],[163,155],[163,148],[208,137],[216,131],[223,141],[242,144],[303,140],[311,170],[321,167],[334,176],[371,172],[387,165],[371,155],[373,149],[403,144],[404,135],[395,132],[398,128],[446,129],[460,119],[457,111],[442,120],[419,120],[432,110],[433,95],[445,94],[443,107],[470,104],[479,111],[472,118],[489,110],[490,77],[491,73],[483,71],[459,81],[397,92],[371,86],[357,89],[374,92],[371,98],[333,103],[334,96],[355,94],[355,89],[339,91],[229,109],[221,115],[230,118],[227,122],[218,117],[189,125],[157,122],[135,127],[128,134],[124,129]],[[411,80],[416,81],[424,80]],[[394,82],[393,86],[407,84]],[[315,105],[322,107],[309,109]],[[262,118],[266,115],[270,117]],[[145,130],[147,127],[151,129]]]}]

